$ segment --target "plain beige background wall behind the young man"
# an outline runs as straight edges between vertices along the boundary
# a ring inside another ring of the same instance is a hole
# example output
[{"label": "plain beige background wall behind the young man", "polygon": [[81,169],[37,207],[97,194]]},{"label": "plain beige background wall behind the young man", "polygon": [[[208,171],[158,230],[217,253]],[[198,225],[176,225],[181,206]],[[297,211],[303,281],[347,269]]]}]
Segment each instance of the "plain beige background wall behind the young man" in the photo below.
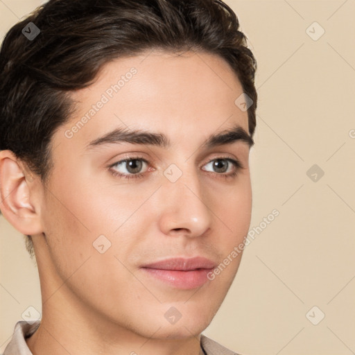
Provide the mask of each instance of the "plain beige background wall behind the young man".
[{"label": "plain beige background wall behind the young man", "polygon": [[[0,0],[1,38],[40,2]],[[354,354],[355,1],[226,2],[259,64],[250,230],[279,216],[245,249],[204,334],[243,355]],[[313,164],[324,171],[316,182]],[[3,217],[0,230],[1,352],[41,304],[23,236]],[[313,306],[318,325],[306,318]]]}]

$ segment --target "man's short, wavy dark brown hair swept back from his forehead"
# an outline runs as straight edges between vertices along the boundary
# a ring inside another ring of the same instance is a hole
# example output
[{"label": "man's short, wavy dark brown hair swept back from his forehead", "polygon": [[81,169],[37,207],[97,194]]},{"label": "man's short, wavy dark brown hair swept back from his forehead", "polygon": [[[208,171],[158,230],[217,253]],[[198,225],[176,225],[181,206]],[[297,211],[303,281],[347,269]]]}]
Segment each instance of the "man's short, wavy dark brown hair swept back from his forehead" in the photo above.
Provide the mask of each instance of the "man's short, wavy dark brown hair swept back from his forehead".
[{"label": "man's short, wavy dark brown hair swept back from his forehead", "polygon": [[[22,33],[33,22],[40,34]],[[147,49],[193,49],[225,59],[252,99],[257,62],[239,20],[221,0],[50,0],[10,28],[0,51],[0,150],[9,149],[46,184],[51,137],[69,119],[70,92],[92,85],[108,62]],[[33,257],[28,236],[26,248]]]}]

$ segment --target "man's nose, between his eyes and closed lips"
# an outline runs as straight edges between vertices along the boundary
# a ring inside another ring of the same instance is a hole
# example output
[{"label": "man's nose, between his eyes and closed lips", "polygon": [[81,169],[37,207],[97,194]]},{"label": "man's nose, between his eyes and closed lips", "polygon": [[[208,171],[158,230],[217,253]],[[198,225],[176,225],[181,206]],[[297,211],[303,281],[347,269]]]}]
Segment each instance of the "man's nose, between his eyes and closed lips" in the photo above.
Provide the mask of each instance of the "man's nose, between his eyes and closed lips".
[{"label": "man's nose, between his eyes and closed lips", "polygon": [[164,234],[197,237],[207,233],[213,212],[204,189],[197,172],[185,171],[177,181],[164,182],[159,191],[159,227]]}]

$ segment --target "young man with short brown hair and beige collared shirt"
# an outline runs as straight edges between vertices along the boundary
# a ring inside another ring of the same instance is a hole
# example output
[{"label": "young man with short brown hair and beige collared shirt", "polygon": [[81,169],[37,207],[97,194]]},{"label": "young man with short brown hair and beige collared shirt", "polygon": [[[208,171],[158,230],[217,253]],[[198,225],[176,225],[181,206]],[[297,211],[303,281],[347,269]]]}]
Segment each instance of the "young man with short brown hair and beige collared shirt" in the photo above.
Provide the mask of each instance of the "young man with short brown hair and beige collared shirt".
[{"label": "young man with short brown hair and beige collared shirt", "polygon": [[5,355],[235,354],[202,335],[252,208],[256,61],[219,0],[51,0],[0,58],[1,211],[42,318]]}]

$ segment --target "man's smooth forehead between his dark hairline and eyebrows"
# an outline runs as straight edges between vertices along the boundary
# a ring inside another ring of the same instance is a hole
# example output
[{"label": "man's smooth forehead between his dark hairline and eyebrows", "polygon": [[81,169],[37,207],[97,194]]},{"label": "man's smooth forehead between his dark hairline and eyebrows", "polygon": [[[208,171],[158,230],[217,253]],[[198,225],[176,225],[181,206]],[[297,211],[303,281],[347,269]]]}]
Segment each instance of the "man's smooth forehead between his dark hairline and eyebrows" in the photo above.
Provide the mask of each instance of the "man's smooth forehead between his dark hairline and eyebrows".
[{"label": "man's smooth forehead between his dark hairline and eyebrows", "polygon": [[203,140],[236,124],[248,132],[248,112],[235,104],[242,93],[218,55],[148,51],[106,64],[93,85],[73,92],[76,112],[57,137],[65,141],[69,129],[65,143],[82,148],[114,128],[165,132],[171,141]]}]

